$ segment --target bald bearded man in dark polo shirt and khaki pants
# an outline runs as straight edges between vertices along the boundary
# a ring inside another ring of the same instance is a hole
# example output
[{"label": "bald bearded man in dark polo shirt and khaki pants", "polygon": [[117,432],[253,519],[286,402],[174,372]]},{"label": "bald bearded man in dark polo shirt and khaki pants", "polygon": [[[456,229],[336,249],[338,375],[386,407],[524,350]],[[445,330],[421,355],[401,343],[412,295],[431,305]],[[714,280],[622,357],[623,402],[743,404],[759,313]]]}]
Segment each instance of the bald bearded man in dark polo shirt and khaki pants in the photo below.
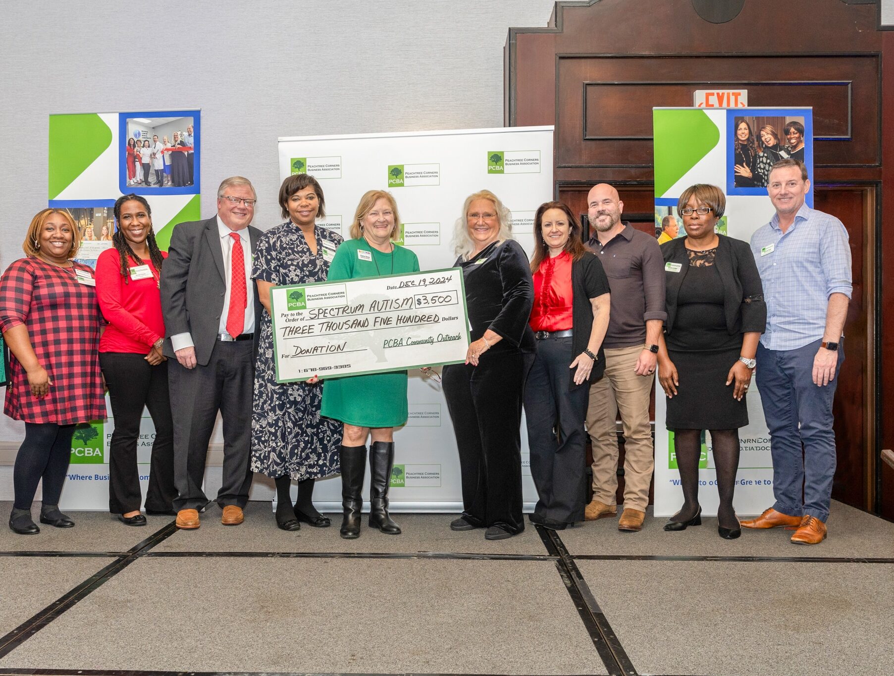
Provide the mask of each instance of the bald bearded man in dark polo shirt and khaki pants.
[{"label": "bald bearded man in dark polo shirt and khaki pants", "polygon": [[586,430],[593,442],[593,501],[586,520],[618,513],[618,435],[624,426],[624,512],[618,529],[643,527],[654,469],[649,399],[655,377],[658,336],[667,318],[664,259],[654,237],[620,220],[624,203],[611,185],[595,185],[586,199],[595,232],[587,242],[602,261],[611,289],[605,334],[605,376],[590,387]]}]

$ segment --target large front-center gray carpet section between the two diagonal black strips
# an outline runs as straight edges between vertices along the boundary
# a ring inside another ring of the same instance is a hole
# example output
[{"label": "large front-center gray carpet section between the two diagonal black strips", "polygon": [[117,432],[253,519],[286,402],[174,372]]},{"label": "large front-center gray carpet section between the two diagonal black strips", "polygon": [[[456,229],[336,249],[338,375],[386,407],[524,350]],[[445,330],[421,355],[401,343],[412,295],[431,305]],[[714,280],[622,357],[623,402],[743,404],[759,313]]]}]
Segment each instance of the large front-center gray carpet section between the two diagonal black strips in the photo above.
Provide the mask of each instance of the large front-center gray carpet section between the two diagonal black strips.
[{"label": "large front-center gray carpet section between the two diagonal black strips", "polygon": [[552,562],[143,558],[3,668],[604,673]]}]

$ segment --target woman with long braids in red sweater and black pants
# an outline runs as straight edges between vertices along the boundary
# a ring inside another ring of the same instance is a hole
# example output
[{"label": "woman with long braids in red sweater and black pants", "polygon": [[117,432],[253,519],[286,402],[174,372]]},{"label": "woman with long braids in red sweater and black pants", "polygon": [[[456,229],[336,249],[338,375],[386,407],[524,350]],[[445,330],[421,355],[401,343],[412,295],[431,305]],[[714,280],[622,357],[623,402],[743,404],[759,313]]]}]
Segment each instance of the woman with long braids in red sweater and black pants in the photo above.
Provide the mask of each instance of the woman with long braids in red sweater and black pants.
[{"label": "woman with long braids in red sweater and black pants", "polygon": [[173,422],[167,368],[162,356],[164,319],[158,291],[162,261],[145,198],[124,195],[114,203],[114,249],[97,260],[97,297],[109,325],[99,342],[99,363],[114,416],[109,444],[109,511],[128,526],[145,526],[139,513],[137,444],[143,406],[156,427],[149,466],[146,511],[173,514]]}]

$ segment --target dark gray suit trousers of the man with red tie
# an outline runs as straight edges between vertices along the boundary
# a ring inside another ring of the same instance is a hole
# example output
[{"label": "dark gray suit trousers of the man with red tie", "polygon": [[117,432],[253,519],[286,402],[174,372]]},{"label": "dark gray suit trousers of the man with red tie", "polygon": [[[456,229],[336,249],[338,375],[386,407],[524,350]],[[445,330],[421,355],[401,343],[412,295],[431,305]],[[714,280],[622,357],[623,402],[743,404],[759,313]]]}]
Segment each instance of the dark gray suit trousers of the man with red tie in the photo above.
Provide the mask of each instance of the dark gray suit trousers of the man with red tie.
[{"label": "dark gray suit trousers of the man with red tie", "polygon": [[223,483],[217,503],[245,507],[251,470],[251,386],[255,360],[251,341],[215,342],[207,366],[183,368],[168,359],[174,425],[174,483],[177,511],[200,509],[208,442],[217,411],[223,418]]}]

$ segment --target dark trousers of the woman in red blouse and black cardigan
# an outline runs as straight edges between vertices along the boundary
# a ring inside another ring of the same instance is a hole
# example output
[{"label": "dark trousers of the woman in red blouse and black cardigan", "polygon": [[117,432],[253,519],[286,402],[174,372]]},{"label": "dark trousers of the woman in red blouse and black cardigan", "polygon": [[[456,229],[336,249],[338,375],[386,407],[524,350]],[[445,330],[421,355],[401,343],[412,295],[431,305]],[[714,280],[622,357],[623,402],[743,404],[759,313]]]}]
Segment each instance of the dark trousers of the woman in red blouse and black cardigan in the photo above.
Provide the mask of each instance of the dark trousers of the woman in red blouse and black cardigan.
[{"label": "dark trousers of the woman in red blouse and black cardigan", "polygon": [[539,500],[537,516],[573,523],[584,520],[586,502],[586,404],[590,388],[569,391],[574,355],[571,337],[537,341],[537,356],[525,384],[527,444]]}]

